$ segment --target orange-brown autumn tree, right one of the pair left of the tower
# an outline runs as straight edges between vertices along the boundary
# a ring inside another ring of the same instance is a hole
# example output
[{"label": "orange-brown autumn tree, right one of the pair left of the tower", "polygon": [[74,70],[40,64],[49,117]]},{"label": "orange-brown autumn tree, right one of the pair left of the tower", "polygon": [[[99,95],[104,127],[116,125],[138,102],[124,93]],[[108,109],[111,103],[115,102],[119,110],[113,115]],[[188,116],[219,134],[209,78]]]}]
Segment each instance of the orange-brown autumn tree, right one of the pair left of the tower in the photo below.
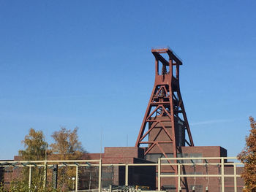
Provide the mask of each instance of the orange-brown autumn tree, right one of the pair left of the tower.
[{"label": "orange-brown autumn tree, right one of the pair left of the tower", "polygon": [[[52,134],[54,143],[50,145],[50,150],[53,153],[51,158],[58,158],[59,160],[72,160],[82,158],[83,150],[81,142],[78,141],[78,128],[73,131],[61,127],[60,131],[55,131]],[[62,168],[59,171],[59,182],[62,189],[69,187],[72,188],[73,180],[75,177],[75,167]]]}]

